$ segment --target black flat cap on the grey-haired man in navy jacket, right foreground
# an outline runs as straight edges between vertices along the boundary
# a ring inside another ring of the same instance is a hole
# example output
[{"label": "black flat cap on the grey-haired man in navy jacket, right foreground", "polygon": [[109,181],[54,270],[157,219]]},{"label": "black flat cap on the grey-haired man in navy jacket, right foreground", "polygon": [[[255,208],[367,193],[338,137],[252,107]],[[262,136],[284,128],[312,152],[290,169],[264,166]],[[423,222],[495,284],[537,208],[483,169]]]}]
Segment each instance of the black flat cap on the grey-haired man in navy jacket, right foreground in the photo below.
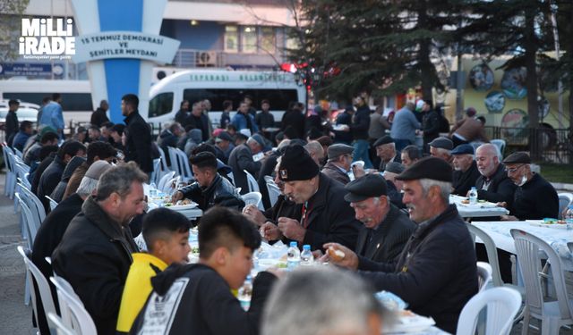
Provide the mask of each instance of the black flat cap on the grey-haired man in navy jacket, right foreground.
[{"label": "black flat cap on the grey-haired man in navy jacket, right foreground", "polygon": [[404,172],[396,176],[397,180],[440,180],[451,182],[453,178],[453,172],[449,163],[443,159],[436,157],[424,157]]}]

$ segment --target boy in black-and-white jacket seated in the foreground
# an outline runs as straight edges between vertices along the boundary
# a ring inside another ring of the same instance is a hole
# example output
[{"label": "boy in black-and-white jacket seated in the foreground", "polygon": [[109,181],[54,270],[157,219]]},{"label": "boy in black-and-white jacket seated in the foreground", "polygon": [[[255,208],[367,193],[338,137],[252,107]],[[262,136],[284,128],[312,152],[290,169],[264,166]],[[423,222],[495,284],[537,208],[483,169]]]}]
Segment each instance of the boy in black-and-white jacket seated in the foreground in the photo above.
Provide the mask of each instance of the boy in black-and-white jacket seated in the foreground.
[{"label": "boy in black-and-white jacket seated in the foreground", "polygon": [[132,334],[259,334],[262,307],[277,279],[260,272],[245,312],[231,289],[252,268],[261,235],[249,219],[213,207],[199,225],[199,264],[173,264],[151,280],[153,291],[133,323]]}]

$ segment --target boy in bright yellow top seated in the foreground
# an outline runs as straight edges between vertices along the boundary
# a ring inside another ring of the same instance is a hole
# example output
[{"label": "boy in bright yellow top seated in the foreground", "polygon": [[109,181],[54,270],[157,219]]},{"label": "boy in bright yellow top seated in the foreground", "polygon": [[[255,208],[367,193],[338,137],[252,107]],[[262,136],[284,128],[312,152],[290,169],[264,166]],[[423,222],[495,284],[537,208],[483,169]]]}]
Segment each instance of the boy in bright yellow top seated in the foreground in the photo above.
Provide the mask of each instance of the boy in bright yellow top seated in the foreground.
[{"label": "boy in bright yellow top seated in the foreground", "polygon": [[141,234],[148,253],[135,253],[125,280],[116,330],[127,333],[151,293],[151,277],[169,264],[186,263],[191,223],[183,214],[158,208],[145,215]]}]

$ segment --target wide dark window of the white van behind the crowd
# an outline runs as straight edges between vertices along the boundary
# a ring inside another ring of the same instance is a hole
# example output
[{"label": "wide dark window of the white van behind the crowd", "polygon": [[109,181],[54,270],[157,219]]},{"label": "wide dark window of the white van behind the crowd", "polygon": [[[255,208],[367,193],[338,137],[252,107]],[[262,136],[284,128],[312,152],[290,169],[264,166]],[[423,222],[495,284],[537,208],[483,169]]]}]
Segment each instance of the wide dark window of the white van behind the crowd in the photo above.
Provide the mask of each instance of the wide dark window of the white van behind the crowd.
[{"label": "wide dark window of the white van behind the crowd", "polygon": [[261,109],[261,100],[269,100],[270,109],[286,111],[291,101],[299,101],[296,89],[237,89],[237,88],[187,88],[183,91],[184,100],[191,104],[209,99],[212,111],[222,111],[223,101],[233,101],[236,110],[244,96],[252,96],[252,107]]}]

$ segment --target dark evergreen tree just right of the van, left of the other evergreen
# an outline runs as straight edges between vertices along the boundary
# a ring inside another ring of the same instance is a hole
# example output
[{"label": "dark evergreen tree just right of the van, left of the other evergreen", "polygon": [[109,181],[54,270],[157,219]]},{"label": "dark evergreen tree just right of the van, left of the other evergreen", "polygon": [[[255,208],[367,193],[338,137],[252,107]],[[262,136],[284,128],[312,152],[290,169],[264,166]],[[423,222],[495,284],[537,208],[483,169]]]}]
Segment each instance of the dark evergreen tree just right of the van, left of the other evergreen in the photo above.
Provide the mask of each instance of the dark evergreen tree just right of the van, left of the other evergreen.
[{"label": "dark evergreen tree just right of the van, left of the other evergreen", "polygon": [[[455,0],[304,0],[304,43],[291,56],[324,69],[322,95],[380,96],[421,86],[432,96],[440,85],[432,60],[455,41],[458,9]],[[338,75],[329,75],[332,69]]]}]

